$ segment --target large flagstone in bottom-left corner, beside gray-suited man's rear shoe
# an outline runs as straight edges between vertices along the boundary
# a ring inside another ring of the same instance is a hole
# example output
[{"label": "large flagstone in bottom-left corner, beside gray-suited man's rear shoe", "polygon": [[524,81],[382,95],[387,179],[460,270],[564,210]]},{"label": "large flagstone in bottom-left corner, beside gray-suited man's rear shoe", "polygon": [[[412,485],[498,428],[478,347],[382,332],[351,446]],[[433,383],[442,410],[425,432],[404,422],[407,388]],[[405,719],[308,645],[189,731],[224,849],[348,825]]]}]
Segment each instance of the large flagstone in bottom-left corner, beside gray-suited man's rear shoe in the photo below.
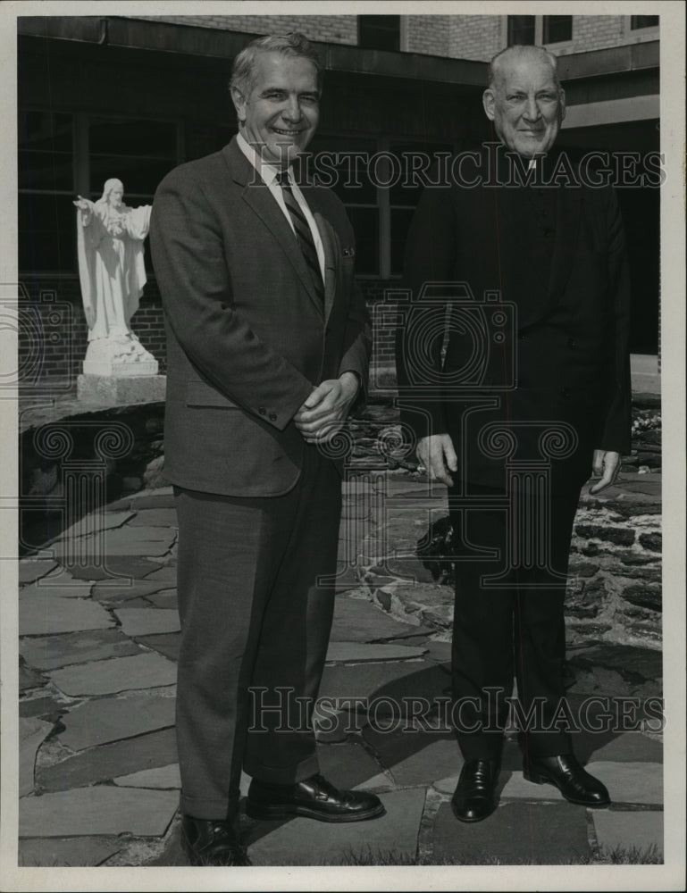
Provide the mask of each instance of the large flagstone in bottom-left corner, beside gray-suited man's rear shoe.
[{"label": "large flagstone in bottom-left corner, beside gray-suited man's rear shoe", "polygon": [[20,837],[161,837],[178,805],[179,794],[174,790],[109,785],[24,797],[19,807],[19,833]]}]

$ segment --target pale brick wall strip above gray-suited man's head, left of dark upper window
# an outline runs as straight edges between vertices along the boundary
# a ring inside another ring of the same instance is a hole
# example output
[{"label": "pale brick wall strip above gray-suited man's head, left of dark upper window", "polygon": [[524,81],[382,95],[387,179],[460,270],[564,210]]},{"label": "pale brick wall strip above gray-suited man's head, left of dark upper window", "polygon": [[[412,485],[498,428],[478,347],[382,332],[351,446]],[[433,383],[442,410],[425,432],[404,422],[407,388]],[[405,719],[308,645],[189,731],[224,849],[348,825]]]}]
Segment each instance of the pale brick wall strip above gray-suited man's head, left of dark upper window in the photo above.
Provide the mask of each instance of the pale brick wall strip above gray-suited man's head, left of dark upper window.
[{"label": "pale brick wall strip above gray-suited man's head, left of dark upper window", "polygon": [[246,31],[250,34],[300,31],[310,40],[332,44],[357,43],[355,15],[137,15],[136,18]]}]

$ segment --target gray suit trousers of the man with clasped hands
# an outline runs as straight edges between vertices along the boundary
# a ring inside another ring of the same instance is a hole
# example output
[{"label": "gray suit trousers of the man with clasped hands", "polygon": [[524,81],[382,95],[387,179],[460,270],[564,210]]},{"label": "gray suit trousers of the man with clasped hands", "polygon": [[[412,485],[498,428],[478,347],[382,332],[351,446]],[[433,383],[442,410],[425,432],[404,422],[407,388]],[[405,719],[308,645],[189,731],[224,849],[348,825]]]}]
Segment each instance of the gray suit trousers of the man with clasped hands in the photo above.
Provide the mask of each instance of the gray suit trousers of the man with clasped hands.
[{"label": "gray suit trousers of the man with clasped hands", "polygon": [[180,805],[196,818],[236,814],[241,769],[282,784],[318,772],[311,721],[334,607],[341,479],[315,447],[304,454],[281,497],[175,488]]}]

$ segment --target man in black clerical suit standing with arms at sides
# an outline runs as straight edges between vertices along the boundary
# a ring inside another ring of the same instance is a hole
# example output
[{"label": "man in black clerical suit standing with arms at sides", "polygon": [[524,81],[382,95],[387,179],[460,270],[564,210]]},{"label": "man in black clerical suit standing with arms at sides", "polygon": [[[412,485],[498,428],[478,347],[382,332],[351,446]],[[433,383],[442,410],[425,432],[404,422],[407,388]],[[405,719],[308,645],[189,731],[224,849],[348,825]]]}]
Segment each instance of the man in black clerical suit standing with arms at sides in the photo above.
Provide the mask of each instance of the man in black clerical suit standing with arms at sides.
[{"label": "man in black clerical suit standing with arms at sides", "polygon": [[[592,493],[616,480],[630,432],[622,222],[612,188],[583,185],[550,151],[565,115],[556,58],[504,50],[483,105],[498,142],[454,166],[464,182],[426,189],[397,339],[402,419],[431,480],[448,484],[457,543],[453,720],[465,764],[452,805],[464,822],[495,808],[514,673],[524,777],[573,803],[610,802],[555,721],[580,489],[592,472]],[[565,176],[547,185],[555,171]]]}]

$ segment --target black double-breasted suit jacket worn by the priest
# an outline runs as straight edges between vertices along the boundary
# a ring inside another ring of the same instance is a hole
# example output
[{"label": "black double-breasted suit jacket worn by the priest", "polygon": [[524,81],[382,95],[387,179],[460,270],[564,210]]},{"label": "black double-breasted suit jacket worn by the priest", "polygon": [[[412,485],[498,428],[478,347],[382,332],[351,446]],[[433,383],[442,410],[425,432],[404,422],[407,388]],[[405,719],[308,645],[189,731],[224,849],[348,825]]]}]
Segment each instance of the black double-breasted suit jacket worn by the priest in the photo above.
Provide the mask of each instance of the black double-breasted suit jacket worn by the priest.
[{"label": "black double-breasted suit jacket worn by the priest", "polygon": [[516,191],[535,187],[505,185],[503,166],[481,165],[481,186],[427,188],[410,227],[410,304],[396,352],[402,420],[418,438],[448,432],[463,480],[501,488],[507,459],[548,458],[557,483],[579,487],[594,448],[630,448],[629,280],[616,196],[543,187],[554,218],[550,262],[541,263]]}]

